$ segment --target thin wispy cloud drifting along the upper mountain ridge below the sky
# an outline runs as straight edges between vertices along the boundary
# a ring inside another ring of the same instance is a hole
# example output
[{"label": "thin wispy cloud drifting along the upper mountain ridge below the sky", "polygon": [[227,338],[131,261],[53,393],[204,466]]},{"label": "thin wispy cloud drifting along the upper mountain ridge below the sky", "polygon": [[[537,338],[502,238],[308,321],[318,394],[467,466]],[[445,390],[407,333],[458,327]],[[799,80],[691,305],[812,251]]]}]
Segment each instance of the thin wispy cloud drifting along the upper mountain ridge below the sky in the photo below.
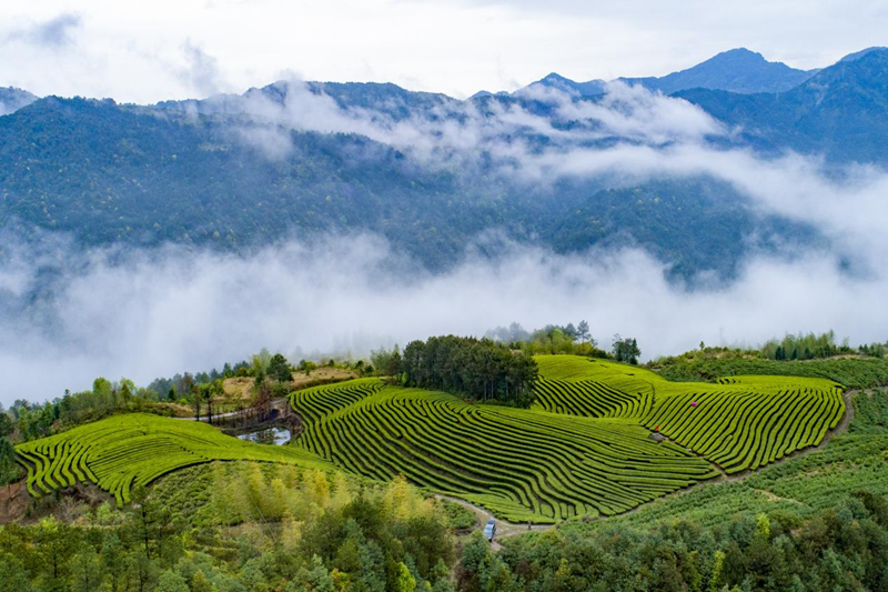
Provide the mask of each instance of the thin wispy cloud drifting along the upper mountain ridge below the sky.
[{"label": "thin wispy cloud drifting along the upper mountain ridge below the sky", "polygon": [[[386,93],[362,100],[349,91],[339,100],[326,87],[290,79],[264,92],[211,97],[200,110],[249,118],[241,136],[260,149],[271,134],[279,134],[266,151],[273,159],[287,155],[281,147],[289,142],[290,130],[355,133],[424,165],[464,167],[483,160],[505,175],[532,182],[569,173],[552,161],[577,150],[588,152],[596,142],[698,146],[731,133],[687,101],[620,81],[607,83],[606,90],[596,101],[542,84],[523,89],[516,94],[521,101],[456,101],[444,96],[407,100]],[[186,103],[186,112],[195,114],[195,104]]]}]

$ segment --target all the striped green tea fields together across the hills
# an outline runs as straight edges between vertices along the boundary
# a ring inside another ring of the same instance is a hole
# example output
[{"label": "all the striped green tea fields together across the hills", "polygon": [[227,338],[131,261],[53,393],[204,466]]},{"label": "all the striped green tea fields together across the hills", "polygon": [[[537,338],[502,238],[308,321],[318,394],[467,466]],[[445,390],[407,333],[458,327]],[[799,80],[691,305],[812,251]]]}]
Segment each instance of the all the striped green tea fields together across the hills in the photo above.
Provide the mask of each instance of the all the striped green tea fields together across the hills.
[{"label": "all the striped green tea fields together across the hills", "polygon": [[[610,515],[723,473],[819,443],[845,411],[828,380],[731,377],[668,382],[644,369],[537,358],[529,410],[362,379],[297,391],[291,445],[242,442],[214,428],[120,415],[21,444],[32,494],[92,481],[120,503],[133,486],[212,460],[340,466],[411,482],[514,521]],[[658,432],[666,440],[652,438]]]}]

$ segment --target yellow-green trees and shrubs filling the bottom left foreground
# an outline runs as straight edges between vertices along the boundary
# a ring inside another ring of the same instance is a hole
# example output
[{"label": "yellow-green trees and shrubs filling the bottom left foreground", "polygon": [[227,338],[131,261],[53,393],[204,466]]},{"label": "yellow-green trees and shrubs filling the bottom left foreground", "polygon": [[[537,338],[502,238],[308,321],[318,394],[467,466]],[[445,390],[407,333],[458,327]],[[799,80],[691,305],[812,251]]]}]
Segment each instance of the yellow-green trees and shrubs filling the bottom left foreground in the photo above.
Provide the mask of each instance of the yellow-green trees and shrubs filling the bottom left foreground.
[{"label": "yellow-green trees and shrubs filling the bottom left foreground", "polygon": [[454,592],[447,518],[403,479],[216,463],[138,488],[125,509],[57,513],[0,526],[0,590]]}]

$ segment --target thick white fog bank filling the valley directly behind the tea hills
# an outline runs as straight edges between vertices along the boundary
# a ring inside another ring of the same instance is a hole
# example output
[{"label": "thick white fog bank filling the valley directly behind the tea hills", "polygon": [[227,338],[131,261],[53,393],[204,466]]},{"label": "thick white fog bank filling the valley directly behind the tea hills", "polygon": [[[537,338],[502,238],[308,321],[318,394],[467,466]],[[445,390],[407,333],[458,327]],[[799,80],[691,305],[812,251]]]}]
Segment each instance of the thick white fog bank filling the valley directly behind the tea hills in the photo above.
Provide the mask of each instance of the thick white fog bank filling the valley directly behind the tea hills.
[{"label": "thick white fog bank filling the valley directly behind the tea hills", "polygon": [[[513,244],[438,275],[417,272],[372,235],[290,241],[246,258],[176,247],[65,249],[44,253],[42,272],[19,261],[0,274],[3,403],[58,397],[98,375],[145,384],[221,368],[262,347],[291,357],[364,355],[383,343],[481,335],[512,321],[587,319],[602,343],[615,332],[636,337],[645,357],[700,340],[758,343],[784,331],[888,335],[880,312],[888,278],[849,278],[824,252],[793,262],[755,258],[731,285],[690,289],[670,283],[664,264],[637,249],[558,255]],[[50,299],[17,298],[49,267],[60,272]]]}]

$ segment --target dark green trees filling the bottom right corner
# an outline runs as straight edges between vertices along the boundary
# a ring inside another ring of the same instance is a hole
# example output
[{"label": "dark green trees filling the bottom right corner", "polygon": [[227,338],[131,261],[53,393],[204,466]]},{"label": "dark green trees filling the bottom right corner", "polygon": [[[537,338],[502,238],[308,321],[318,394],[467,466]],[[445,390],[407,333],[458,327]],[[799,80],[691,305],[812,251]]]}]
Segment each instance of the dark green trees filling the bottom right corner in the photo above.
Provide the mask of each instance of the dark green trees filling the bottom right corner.
[{"label": "dark green trees filling the bottom right corner", "polygon": [[456,568],[462,592],[888,590],[888,503],[859,492],[801,519],[777,511],[715,528],[663,521],[557,529],[500,553],[477,533]]}]

